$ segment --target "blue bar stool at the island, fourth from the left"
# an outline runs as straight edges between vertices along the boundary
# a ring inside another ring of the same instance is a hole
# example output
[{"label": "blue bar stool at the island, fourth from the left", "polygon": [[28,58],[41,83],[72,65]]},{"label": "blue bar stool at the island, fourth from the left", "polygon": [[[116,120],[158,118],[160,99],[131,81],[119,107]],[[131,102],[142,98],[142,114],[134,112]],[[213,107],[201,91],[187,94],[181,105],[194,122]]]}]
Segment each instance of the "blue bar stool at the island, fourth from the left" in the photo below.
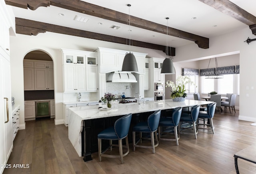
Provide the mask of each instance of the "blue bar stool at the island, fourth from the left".
[{"label": "blue bar stool at the island, fourth from the left", "polygon": [[182,113],[181,117],[180,117],[180,125],[179,125],[179,133],[182,133],[182,134],[192,134],[190,132],[182,132],[181,130],[182,129],[185,129],[185,128],[182,128],[182,122],[192,122],[193,123],[193,129],[194,129],[194,134],[195,134],[195,137],[197,139],[197,136],[196,134],[198,133],[198,131],[196,130],[196,121],[198,119],[198,114],[199,114],[199,111],[200,111],[200,105],[195,105],[191,108],[191,112],[190,113]]}]

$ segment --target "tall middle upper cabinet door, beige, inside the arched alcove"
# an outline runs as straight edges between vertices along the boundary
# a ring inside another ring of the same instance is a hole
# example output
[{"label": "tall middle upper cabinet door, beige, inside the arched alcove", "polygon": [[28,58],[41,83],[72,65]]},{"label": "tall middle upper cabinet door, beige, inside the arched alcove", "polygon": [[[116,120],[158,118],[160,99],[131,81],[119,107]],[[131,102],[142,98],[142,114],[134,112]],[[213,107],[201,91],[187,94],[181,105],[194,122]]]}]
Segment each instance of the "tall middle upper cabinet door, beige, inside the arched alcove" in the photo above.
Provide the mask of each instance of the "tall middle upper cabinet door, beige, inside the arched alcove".
[{"label": "tall middle upper cabinet door, beige, inside the arched alcove", "polygon": [[47,90],[47,69],[34,68],[35,90]]}]

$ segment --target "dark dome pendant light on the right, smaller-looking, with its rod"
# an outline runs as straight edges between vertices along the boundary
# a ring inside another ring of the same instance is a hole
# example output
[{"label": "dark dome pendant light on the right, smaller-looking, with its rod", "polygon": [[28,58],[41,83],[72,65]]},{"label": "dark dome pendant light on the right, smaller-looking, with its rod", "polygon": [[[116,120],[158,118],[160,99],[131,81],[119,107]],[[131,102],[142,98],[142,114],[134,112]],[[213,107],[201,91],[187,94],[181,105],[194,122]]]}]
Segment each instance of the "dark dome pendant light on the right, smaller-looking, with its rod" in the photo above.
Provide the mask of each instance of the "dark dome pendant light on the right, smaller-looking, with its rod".
[{"label": "dark dome pendant light on the right, smaller-looking, with its rod", "polygon": [[162,69],[161,69],[161,74],[175,74],[175,68],[172,62],[172,59],[168,57],[168,19],[167,19],[167,46],[166,46],[166,54],[167,57],[163,61]]}]

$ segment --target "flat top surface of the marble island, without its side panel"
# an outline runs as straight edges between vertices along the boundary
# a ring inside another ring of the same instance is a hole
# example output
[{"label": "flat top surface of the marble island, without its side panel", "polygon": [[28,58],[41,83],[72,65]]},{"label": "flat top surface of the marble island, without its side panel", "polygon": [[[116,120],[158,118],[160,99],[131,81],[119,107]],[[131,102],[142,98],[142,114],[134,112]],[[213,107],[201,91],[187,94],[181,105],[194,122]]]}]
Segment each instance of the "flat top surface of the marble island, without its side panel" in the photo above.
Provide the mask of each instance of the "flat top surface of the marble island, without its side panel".
[{"label": "flat top surface of the marble island, without its side panel", "polygon": [[[176,107],[189,107],[194,105],[205,105],[208,101],[197,101],[197,100],[185,100],[184,102],[174,102],[172,99],[164,100],[164,101],[146,101],[145,104],[142,102],[138,103],[117,103],[117,109],[110,109],[109,111],[100,111],[98,109],[98,105],[96,106],[85,106],[85,107],[70,107],[71,111],[73,111],[80,119],[88,120],[88,119],[98,119],[104,117],[113,117],[118,115],[126,115],[129,113],[143,113],[148,111],[156,111],[158,109],[174,109]],[[102,105],[102,107],[106,107],[106,105]]]}]

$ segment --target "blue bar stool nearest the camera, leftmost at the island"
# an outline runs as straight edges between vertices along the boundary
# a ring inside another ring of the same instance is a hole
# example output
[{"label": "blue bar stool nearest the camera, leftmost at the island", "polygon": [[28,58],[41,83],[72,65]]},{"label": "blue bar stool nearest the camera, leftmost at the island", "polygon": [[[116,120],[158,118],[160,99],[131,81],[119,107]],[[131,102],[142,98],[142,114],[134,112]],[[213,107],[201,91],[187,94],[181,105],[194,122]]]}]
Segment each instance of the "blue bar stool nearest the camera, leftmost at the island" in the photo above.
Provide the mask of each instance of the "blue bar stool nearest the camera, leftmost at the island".
[{"label": "blue bar stool nearest the camera, leftmost at the island", "polygon": [[[124,156],[126,156],[129,153],[129,143],[128,143],[128,131],[130,128],[130,123],[132,120],[132,114],[125,115],[124,117],[121,117],[118,119],[113,127],[109,127],[102,132],[98,134],[98,153],[99,153],[99,161],[101,161],[101,157],[108,157],[108,158],[121,158],[121,163],[124,164]],[[122,146],[122,139],[126,140],[126,147],[127,151],[123,154],[123,146]],[[101,140],[109,140],[110,141],[110,150],[112,150],[112,146],[118,146],[119,147],[119,155],[110,155],[110,154],[104,154],[108,150],[101,151]],[[118,140],[117,144],[112,144],[112,140]]]}]

